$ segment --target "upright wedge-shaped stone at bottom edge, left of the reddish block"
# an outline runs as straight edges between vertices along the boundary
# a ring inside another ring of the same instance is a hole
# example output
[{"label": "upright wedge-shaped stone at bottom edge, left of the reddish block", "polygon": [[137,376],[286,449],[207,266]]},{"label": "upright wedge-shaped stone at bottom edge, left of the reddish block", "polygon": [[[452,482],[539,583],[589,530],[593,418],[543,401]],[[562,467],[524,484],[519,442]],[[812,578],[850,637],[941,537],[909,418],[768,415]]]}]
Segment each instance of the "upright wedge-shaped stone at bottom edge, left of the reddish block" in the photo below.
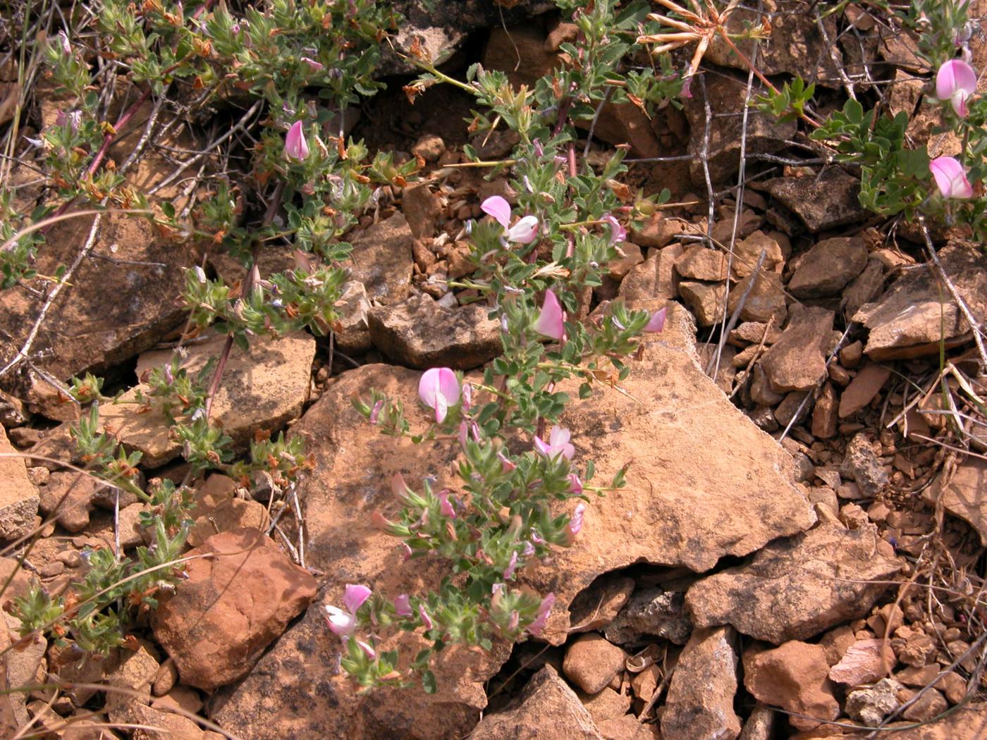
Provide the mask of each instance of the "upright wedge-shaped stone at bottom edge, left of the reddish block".
[{"label": "upright wedge-shaped stone at bottom edge, left of the reddish block", "polygon": [[740,734],[733,711],[737,690],[736,633],[728,627],[697,629],[682,649],[661,715],[664,737],[732,740]]}]

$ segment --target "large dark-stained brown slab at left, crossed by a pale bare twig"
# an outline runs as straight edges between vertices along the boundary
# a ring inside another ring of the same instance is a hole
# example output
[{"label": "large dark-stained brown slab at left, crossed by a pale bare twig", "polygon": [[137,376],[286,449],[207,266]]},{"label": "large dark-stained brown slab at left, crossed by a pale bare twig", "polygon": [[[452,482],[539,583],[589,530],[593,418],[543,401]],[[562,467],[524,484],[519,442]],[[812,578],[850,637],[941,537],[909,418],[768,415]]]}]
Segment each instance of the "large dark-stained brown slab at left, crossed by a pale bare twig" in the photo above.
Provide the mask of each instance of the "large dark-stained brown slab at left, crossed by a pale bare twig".
[{"label": "large dark-stained brown slab at left, crossed by a pale bare twig", "polygon": [[[58,264],[75,261],[91,226],[91,218],[55,224],[39,251],[38,272],[52,275]],[[83,259],[33,345],[35,351],[51,350],[33,361],[63,381],[149,349],[185,313],[175,298],[185,285],[183,267],[194,264],[191,250],[162,239],[148,222],[105,215],[92,254],[120,261]],[[21,348],[40,304],[21,287],[0,292],[0,367]],[[3,379],[5,387],[10,380]]]}]

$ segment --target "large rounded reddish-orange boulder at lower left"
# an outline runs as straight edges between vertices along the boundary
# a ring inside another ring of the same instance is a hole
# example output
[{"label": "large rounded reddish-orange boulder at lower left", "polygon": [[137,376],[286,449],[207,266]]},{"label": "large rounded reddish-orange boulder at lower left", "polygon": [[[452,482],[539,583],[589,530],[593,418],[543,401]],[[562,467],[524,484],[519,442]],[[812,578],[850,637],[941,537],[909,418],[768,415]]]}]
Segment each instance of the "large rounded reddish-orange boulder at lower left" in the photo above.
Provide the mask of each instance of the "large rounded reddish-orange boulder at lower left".
[{"label": "large rounded reddish-orange boulder at lower left", "polygon": [[161,599],[151,624],[182,682],[212,691],[250,671],[316,584],[257,530],[223,532],[188,553],[204,554],[215,556],[185,563],[189,578]]}]

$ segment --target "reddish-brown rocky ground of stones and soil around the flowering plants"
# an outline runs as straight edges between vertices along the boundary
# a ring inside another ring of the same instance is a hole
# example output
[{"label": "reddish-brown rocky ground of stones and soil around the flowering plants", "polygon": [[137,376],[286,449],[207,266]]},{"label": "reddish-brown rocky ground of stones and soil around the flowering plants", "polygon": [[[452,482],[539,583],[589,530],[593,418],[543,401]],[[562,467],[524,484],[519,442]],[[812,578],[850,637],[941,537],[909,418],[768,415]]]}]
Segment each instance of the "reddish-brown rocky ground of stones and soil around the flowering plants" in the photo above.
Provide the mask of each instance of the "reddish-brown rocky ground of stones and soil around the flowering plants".
[{"label": "reddish-brown rocky ground of stones and soil around the flowering plants", "polygon": [[[889,110],[914,109],[928,70],[916,67],[908,37],[851,9],[854,33],[835,45],[846,68],[879,62],[895,83],[883,93]],[[547,18],[493,28],[482,51],[468,46],[451,68],[482,55],[530,82],[567,33]],[[842,83],[815,23],[793,14],[774,33],[765,73],[817,78],[838,100]],[[987,67],[987,52],[976,54]],[[610,106],[594,130],[590,158],[624,143],[638,159],[670,158],[634,165],[630,179],[646,191],[670,187],[680,205],[629,235],[593,305],[620,297],[670,313],[633,364],[627,395],[598,393],[565,419],[578,459],[594,460],[603,479],[630,468],[625,488],[589,504],[585,536],[523,574],[558,598],[543,639],[443,653],[434,696],[357,695],[321,614],[345,583],[398,593],[442,574],[440,562],[403,562],[370,518],[394,506],[395,473],[441,477],[454,451],[382,437],[350,399],[376,387],[423,425],[419,371],[474,370],[500,346],[487,311],[445,280],[470,269],[464,223],[481,215],[484,197],[509,199],[510,187],[453,167],[465,161],[468,100],[435,89],[412,108],[392,85],[354,133],[428,164],[352,237],[335,345],[300,334],[234,350],[213,407],[241,447],[257,429],[303,435],[313,473],[276,502],[223,476],[203,481],[189,555],[228,556],[190,561],[141,636],[109,658],[43,642],[8,652],[5,686],[69,684],[3,697],[0,722],[33,720],[33,732],[73,740],[122,736],[107,723],[131,725],[135,738],[203,740],[807,740],[873,737],[860,728],[881,723],[897,730],[881,737],[902,740],[987,736],[987,375],[954,300],[987,318],[982,247],[945,232],[937,266],[906,225],[861,208],[857,173],[797,164],[810,147],[795,124],[753,111],[750,179],[738,190],[746,74],[722,49],[706,61],[705,92],[682,111],[648,121],[633,106]],[[486,158],[512,145],[474,143]],[[149,162],[144,176],[167,171]],[[52,264],[70,259],[88,229],[58,228],[48,239],[55,254],[42,258]],[[0,537],[43,520],[20,564],[23,548],[0,561],[8,594],[31,578],[58,591],[84,572],[88,552],[128,551],[146,537],[143,504],[117,502],[66,466],[78,407],[43,383],[43,374],[64,380],[98,367],[132,396],[143,371],[169,356],[183,320],[179,268],[195,256],[143,228],[111,218],[100,244],[158,266],[94,262],[79,272],[39,335],[50,350],[35,361],[40,380],[0,399],[0,450],[31,456],[0,458]],[[708,228],[718,249],[697,238]],[[291,256],[271,249],[265,259],[270,271]],[[233,279],[242,271],[224,255],[211,268]],[[109,305],[108,284],[120,291]],[[17,291],[0,294],[0,305],[0,336],[13,337],[2,340],[4,355],[21,345],[37,306]],[[194,343],[190,364],[223,338]],[[105,427],[143,453],[148,478],[181,480],[164,420],[132,409],[108,405]],[[11,636],[0,630],[0,641]]]}]

